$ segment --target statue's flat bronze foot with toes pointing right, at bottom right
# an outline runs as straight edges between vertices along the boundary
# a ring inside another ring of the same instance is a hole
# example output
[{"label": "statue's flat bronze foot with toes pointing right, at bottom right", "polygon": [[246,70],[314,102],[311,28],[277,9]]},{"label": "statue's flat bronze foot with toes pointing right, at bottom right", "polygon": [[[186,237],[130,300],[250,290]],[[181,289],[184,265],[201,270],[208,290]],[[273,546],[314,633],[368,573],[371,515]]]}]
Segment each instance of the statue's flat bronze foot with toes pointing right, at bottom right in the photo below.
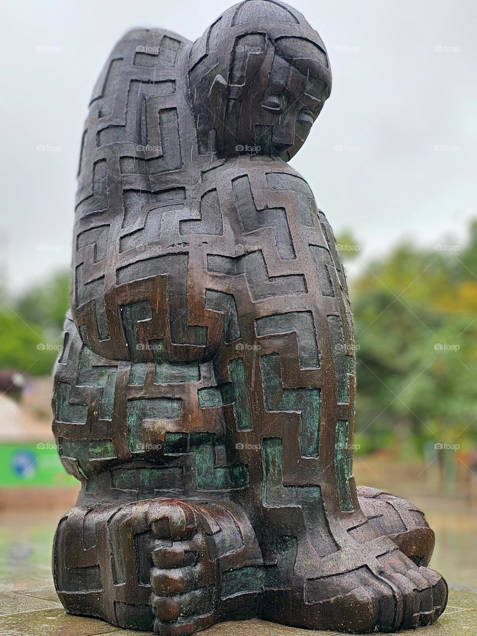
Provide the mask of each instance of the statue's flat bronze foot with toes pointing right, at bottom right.
[{"label": "statue's flat bronze foot with toes pointing right, at bottom right", "polygon": [[385,537],[321,558],[317,576],[310,576],[309,556],[298,556],[291,589],[265,591],[261,618],[315,630],[394,632],[429,625],[445,609],[444,579]]}]

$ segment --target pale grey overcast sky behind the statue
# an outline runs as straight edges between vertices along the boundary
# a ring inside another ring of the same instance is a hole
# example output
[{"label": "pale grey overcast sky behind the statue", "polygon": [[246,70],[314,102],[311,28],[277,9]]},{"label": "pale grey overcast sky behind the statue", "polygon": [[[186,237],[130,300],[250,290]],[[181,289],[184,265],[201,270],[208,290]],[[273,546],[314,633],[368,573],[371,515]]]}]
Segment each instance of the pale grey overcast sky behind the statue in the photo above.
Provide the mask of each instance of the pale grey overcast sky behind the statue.
[{"label": "pale grey overcast sky behind the statue", "polygon": [[[115,41],[143,26],[193,40],[230,4],[0,0],[0,271],[10,293],[69,264],[83,120]],[[291,164],[335,233],[350,228],[363,261],[399,239],[463,237],[477,217],[477,3],[292,4],[328,48],[333,91]]]}]

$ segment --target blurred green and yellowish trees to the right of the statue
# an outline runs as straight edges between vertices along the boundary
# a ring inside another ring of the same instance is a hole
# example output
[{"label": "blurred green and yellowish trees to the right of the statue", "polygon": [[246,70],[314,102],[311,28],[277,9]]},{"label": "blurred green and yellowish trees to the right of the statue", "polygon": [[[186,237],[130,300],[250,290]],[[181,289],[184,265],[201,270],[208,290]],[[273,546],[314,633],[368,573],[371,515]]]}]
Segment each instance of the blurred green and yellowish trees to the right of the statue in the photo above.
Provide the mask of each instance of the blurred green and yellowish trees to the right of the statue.
[{"label": "blurred green and yellowish trees to the right of the statue", "polygon": [[407,455],[477,441],[476,274],[473,226],[464,249],[399,245],[350,284],[357,443]]}]

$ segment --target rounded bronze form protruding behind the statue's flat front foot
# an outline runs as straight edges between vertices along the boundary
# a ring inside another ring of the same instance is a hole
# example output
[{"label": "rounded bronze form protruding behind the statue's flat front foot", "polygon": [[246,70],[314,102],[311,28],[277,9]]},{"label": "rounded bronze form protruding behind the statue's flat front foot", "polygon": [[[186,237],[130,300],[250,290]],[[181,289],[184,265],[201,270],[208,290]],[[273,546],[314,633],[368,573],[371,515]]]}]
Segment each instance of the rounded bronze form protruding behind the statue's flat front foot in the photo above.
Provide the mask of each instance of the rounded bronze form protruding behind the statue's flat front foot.
[{"label": "rounded bronze form protruding behind the statue's flat front foot", "polygon": [[428,565],[435,536],[422,513],[405,499],[376,488],[357,488],[359,504],[378,535],[396,543],[416,565]]}]

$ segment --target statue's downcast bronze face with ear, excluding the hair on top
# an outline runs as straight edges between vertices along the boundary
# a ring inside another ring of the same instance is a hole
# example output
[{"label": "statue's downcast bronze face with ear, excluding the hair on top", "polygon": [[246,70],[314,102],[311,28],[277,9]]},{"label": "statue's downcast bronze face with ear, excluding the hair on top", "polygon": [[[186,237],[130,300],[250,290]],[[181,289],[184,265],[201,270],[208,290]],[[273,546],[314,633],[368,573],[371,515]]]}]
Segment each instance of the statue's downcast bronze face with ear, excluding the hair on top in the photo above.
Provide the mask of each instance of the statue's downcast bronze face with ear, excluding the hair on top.
[{"label": "statue's downcast bronze face with ear, excluding the hair on top", "polygon": [[[268,50],[256,49],[240,46],[229,83],[221,77],[212,85],[216,148],[219,156],[247,152],[289,161],[307,139],[329,95],[326,55],[298,38],[283,38],[269,44]],[[237,73],[236,67],[244,71]],[[241,83],[231,84],[234,79]]]}]

